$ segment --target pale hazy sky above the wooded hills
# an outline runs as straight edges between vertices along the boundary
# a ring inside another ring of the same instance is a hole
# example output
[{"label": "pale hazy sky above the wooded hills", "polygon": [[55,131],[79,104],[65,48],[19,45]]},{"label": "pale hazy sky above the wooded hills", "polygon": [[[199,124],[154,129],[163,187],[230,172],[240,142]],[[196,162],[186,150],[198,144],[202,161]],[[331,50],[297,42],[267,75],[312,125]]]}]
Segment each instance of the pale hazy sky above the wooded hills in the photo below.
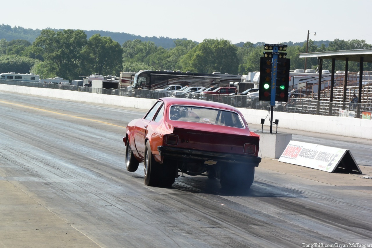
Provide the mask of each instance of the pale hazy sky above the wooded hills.
[{"label": "pale hazy sky above the wooded hills", "polygon": [[197,42],[222,38],[233,44],[303,42],[310,30],[312,40],[372,44],[372,0],[14,0],[3,1],[1,10],[0,24],[31,29],[104,30]]}]

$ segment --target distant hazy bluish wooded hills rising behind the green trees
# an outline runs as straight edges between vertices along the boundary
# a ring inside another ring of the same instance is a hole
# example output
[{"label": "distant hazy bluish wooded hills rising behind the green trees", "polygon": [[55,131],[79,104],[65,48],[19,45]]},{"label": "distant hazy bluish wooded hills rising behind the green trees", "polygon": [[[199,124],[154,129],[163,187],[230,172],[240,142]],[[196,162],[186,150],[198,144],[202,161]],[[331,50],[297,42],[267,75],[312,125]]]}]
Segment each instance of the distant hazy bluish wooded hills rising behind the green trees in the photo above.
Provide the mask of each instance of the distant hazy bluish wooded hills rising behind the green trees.
[{"label": "distant hazy bluish wooded hills rising behind the green trees", "polygon": [[[63,29],[51,29],[54,30],[55,32],[57,31],[62,31]],[[10,40],[16,40],[16,39],[22,39],[22,40],[28,40],[29,42],[34,42],[36,37],[40,35],[41,30],[40,29],[25,29],[23,27],[11,27],[10,25],[6,24],[1,24],[0,25],[0,39],[6,39],[7,41]],[[128,33],[118,33],[118,32],[110,32],[110,31],[103,31],[103,30],[84,30],[84,32],[87,34],[87,38],[89,39],[90,37],[93,36],[93,34],[99,33],[101,36],[108,36],[111,37],[111,39],[117,41],[119,44],[123,44],[127,40],[135,40],[135,39],[140,39],[142,42],[154,42],[156,46],[161,46],[165,49],[169,49],[171,47],[174,47],[174,41],[179,40],[180,38],[169,38],[169,37],[142,37],[139,35],[134,35],[134,34],[128,34]],[[186,38],[182,38],[182,40],[187,40]],[[306,42],[306,40],[304,41]],[[283,44],[288,44],[288,46],[303,46],[304,42],[284,42]],[[330,41],[328,40],[321,40],[321,41],[314,41],[314,44],[316,46],[320,46],[321,44],[325,44],[325,47],[328,47]],[[243,47],[244,42],[239,42],[235,44],[238,47]],[[254,46],[261,46],[263,45],[263,42],[257,42],[254,44]]]}]

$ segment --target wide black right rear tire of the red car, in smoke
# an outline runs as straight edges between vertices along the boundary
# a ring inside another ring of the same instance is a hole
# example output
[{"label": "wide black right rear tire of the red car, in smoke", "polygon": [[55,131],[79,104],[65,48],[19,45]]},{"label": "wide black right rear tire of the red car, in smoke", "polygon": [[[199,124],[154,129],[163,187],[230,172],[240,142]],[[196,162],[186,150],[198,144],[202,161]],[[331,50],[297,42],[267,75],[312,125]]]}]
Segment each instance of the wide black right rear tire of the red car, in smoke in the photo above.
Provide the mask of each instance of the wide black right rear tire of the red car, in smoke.
[{"label": "wide black right rear tire of the red car, in smoke", "polygon": [[253,183],[254,166],[222,167],[220,178],[222,188],[247,190]]}]

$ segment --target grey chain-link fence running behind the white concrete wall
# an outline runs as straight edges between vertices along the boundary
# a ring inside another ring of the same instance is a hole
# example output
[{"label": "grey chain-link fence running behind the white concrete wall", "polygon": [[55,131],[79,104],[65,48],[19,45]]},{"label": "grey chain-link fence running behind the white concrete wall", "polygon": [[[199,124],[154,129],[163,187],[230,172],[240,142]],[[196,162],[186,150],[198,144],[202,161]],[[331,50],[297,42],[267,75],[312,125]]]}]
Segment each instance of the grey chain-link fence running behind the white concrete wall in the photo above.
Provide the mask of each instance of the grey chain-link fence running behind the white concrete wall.
[{"label": "grey chain-link fence running behind the white concrete wall", "polygon": [[[98,89],[92,87],[81,87],[75,85],[57,85],[54,83],[35,83],[35,82],[20,82],[0,80],[1,84],[38,87],[47,89],[71,90],[77,92],[97,93],[104,95],[116,95],[127,97],[140,97],[147,99],[159,99],[166,97],[164,92],[157,90],[144,89]],[[201,99],[213,102],[225,103],[236,108],[261,109],[269,110],[269,103],[259,101],[257,96],[241,96],[241,95],[212,95],[202,93],[186,93],[182,95],[184,98]],[[344,110],[342,110],[344,109]],[[341,111],[342,110],[342,111]],[[295,98],[289,102],[276,102],[275,112],[302,113],[310,115],[325,115],[325,116],[349,116],[355,118],[365,118],[365,115],[357,113],[368,112],[371,115],[372,103],[342,103],[342,102],[327,102],[318,101],[310,98]]]}]

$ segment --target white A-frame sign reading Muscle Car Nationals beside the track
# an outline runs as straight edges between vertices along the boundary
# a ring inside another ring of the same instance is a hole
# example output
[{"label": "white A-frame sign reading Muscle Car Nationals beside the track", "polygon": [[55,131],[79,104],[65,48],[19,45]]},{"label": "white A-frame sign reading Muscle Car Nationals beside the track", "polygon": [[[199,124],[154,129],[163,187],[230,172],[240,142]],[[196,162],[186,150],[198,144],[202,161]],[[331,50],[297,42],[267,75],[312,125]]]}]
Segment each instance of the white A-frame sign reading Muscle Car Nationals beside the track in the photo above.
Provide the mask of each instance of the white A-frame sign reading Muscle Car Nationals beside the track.
[{"label": "white A-frame sign reading Muscle Car Nationals beside the track", "polygon": [[327,172],[362,173],[347,149],[291,140],[279,162],[292,163]]}]

